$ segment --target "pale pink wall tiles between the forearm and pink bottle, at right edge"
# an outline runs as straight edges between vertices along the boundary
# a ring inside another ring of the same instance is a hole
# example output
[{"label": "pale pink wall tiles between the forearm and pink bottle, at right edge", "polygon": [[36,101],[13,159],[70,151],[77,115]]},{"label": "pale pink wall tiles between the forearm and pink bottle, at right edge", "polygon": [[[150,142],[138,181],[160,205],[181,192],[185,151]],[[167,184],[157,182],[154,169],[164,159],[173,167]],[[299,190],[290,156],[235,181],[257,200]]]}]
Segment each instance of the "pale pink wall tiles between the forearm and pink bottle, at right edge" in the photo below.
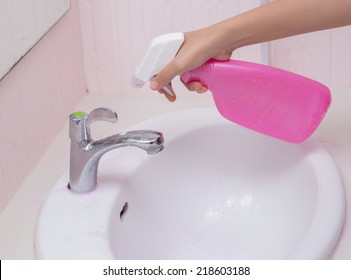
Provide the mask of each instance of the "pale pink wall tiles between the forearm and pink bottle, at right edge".
[{"label": "pale pink wall tiles between the forearm and pink bottle, at right edge", "polygon": [[350,87],[350,49],[350,26],[313,32],[272,42],[270,63],[331,87]]}]

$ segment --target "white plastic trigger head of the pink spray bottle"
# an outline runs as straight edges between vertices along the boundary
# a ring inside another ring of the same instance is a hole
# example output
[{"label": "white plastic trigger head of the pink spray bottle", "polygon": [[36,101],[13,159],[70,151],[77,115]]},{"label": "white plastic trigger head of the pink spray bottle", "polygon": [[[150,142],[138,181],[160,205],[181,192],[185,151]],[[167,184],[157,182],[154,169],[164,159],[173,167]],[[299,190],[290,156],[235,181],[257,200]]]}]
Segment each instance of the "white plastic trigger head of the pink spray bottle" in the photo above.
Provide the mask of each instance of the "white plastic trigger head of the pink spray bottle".
[{"label": "white plastic trigger head of the pink spray bottle", "polygon": [[[176,56],[183,42],[184,34],[182,32],[168,33],[152,39],[143,59],[136,67],[132,85],[142,87],[147,81],[150,81]],[[174,95],[169,88],[166,92]]]}]

